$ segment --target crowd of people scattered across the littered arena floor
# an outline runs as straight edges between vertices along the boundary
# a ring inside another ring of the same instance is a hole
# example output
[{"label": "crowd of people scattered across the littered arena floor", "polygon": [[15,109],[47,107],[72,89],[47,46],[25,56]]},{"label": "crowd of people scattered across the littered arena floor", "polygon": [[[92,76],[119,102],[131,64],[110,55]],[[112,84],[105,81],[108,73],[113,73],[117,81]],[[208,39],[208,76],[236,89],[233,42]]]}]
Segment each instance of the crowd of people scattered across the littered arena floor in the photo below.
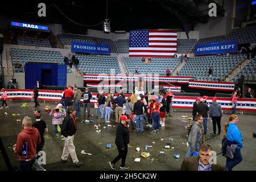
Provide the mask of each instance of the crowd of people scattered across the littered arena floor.
[{"label": "crowd of people scattered across the littered arena floor", "polygon": [[[232,96],[234,111],[236,108],[236,98],[239,97],[238,91],[239,89]],[[250,88],[247,94],[251,96]],[[38,97],[38,93],[34,92],[34,97]],[[115,116],[115,122],[118,123],[115,136],[118,156],[109,162],[110,168],[116,169],[115,164],[119,159],[122,159],[119,168],[129,168],[125,162],[128,153],[127,144],[130,140],[130,131],[134,129],[135,125],[137,132],[144,132],[144,123],[146,122],[146,127],[152,128],[151,134],[159,133],[160,129],[165,126],[166,117],[172,117],[172,99],[174,97],[171,89],[168,89],[165,93],[159,93],[158,96],[151,96],[150,92],[146,95],[142,87],[139,89],[135,87],[133,94],[127,100],[122,90],[119,91],[117,97],[114,96],[113,92],[104,94],[102,90],[99,90],[96,98],[95,116],[99,119],[105,119],[105,122],[109,123],[110,116],[113,115]],[[77,129],[75,115],[81,114],[80,100],[82,99],[84,100],[84,117],[91,117],[91,98],[92,93],[88,88],[85,88],[85,92],[82,93],[76,85],[69,85],[68,88],[64,89],[60,103],[54,109],[46,110],[52,117],[52,125],[55,128],[56,135],[61,135],[61,140],[65,142],[60,162],[67,163],[67,158],[70,155],[74,166],[82,166],[82,162],[77,159],[73,143]],[[212,119],[213,131],[211,134],[220,135],[222,131],[222,109],[221,105],[217,102],[217,97],[212,98],[212,104],[209,106],[207,99],[207,96],[197,97],[193,104],[193,119],[191,123],[188,123],[189,126],[187,127],[188,151],[181,165],[181,170],[232,170],[234,166],[242,161],[240,151],[243,147],[242,134],[237,126],[239,119],[235,112],[232,111],[229,121],[225,123],[222,140],[222,155],[226,156],[226,164],[221,166],[209,162],[209,158],[212,156],[210,154],[212,147],[209,143],[205,142],[207,123]],[[38,152],[44,146],[44,133],[48,132],[48,126],[42,120],[40,110],[34,111],[33,116],[35,118],[34,122],[28,117],[23,119],[23,130],[18,135],[13,150],[19,156],[20,170],[32,170],[34,166],[37,170],[44,171],[46,169],[38,162]],[[24,142],[27,142],[27,148],[22,147]],[[23,153],[28,155],[24,156]]]}]

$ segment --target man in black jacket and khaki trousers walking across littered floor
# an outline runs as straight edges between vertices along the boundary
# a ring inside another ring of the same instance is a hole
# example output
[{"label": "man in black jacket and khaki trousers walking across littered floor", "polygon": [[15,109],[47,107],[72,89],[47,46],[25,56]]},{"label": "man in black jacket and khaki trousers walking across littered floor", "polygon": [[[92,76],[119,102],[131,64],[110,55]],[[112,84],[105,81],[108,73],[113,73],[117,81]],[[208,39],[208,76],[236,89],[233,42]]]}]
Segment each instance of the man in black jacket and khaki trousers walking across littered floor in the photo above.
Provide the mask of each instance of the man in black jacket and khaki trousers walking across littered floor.
[{"label": "man in black jacket and khaki trousers walking across littered floor", "polygon": [[67,116],[63,120],[63,125],[61,127],[61,134],[65,141],[63,148],[63,154],[61,156],[61,162],[67,163],[68,156],[70,155],[73,160],[73,165],[76,167],[82,166],[82,162],[77,159],[76,150],[73,143],[74,135],[76,133],[76,120],[74,116],[76,115],[76,109],[74,106],[69,106],[67,110]]}]

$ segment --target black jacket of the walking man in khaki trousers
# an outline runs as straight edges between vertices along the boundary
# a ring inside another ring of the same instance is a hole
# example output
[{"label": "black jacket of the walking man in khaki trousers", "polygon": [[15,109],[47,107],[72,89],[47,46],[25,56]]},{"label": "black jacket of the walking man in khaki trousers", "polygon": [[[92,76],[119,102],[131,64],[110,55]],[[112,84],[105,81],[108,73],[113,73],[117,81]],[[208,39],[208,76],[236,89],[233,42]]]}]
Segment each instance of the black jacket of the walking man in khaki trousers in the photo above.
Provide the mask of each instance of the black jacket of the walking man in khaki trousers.
[{"label": "black jacket of the walking man in khaki trousers", "polygon": [[61,134],[63,134],[64,137],[68,137],[68,136],[74,135],[75,133],[76,133],[75,123],[71,118],[71,116],[68,114],[63,120],[63,125],[61,127]]}]

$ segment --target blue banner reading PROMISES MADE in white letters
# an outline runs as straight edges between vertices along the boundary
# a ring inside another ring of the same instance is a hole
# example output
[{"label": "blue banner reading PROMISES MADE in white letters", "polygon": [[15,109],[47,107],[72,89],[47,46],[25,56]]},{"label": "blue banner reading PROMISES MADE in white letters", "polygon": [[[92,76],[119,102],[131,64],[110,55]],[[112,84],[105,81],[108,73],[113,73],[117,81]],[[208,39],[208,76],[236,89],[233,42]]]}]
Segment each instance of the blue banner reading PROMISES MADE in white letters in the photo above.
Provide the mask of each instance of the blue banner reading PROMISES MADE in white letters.
[{"label": "blue banner reading PROMISES MADE in white letters", "polygon": [[94,44],[94,43],[88,43],[88,42],[72,41],[71,51],[110,55],[110,46],[106,44]]}]

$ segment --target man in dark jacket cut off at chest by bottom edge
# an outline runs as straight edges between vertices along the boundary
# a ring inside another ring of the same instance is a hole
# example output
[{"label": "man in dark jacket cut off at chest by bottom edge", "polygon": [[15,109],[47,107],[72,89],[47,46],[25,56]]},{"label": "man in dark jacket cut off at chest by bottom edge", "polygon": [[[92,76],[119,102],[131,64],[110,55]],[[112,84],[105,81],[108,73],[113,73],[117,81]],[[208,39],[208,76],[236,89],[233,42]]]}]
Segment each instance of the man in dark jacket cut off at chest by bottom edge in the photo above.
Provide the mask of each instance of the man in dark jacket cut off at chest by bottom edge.
[{"label": "man in dark jacket cut off at chest by bottom edge", "polygon": [[208,143],[200,146],[199,156],[191,156],[185,158],[181,164],[181,171],[224,171],[224,167],[220,164],[214,164],[210,160],[213,154],[210,154],[212,147]]}]

